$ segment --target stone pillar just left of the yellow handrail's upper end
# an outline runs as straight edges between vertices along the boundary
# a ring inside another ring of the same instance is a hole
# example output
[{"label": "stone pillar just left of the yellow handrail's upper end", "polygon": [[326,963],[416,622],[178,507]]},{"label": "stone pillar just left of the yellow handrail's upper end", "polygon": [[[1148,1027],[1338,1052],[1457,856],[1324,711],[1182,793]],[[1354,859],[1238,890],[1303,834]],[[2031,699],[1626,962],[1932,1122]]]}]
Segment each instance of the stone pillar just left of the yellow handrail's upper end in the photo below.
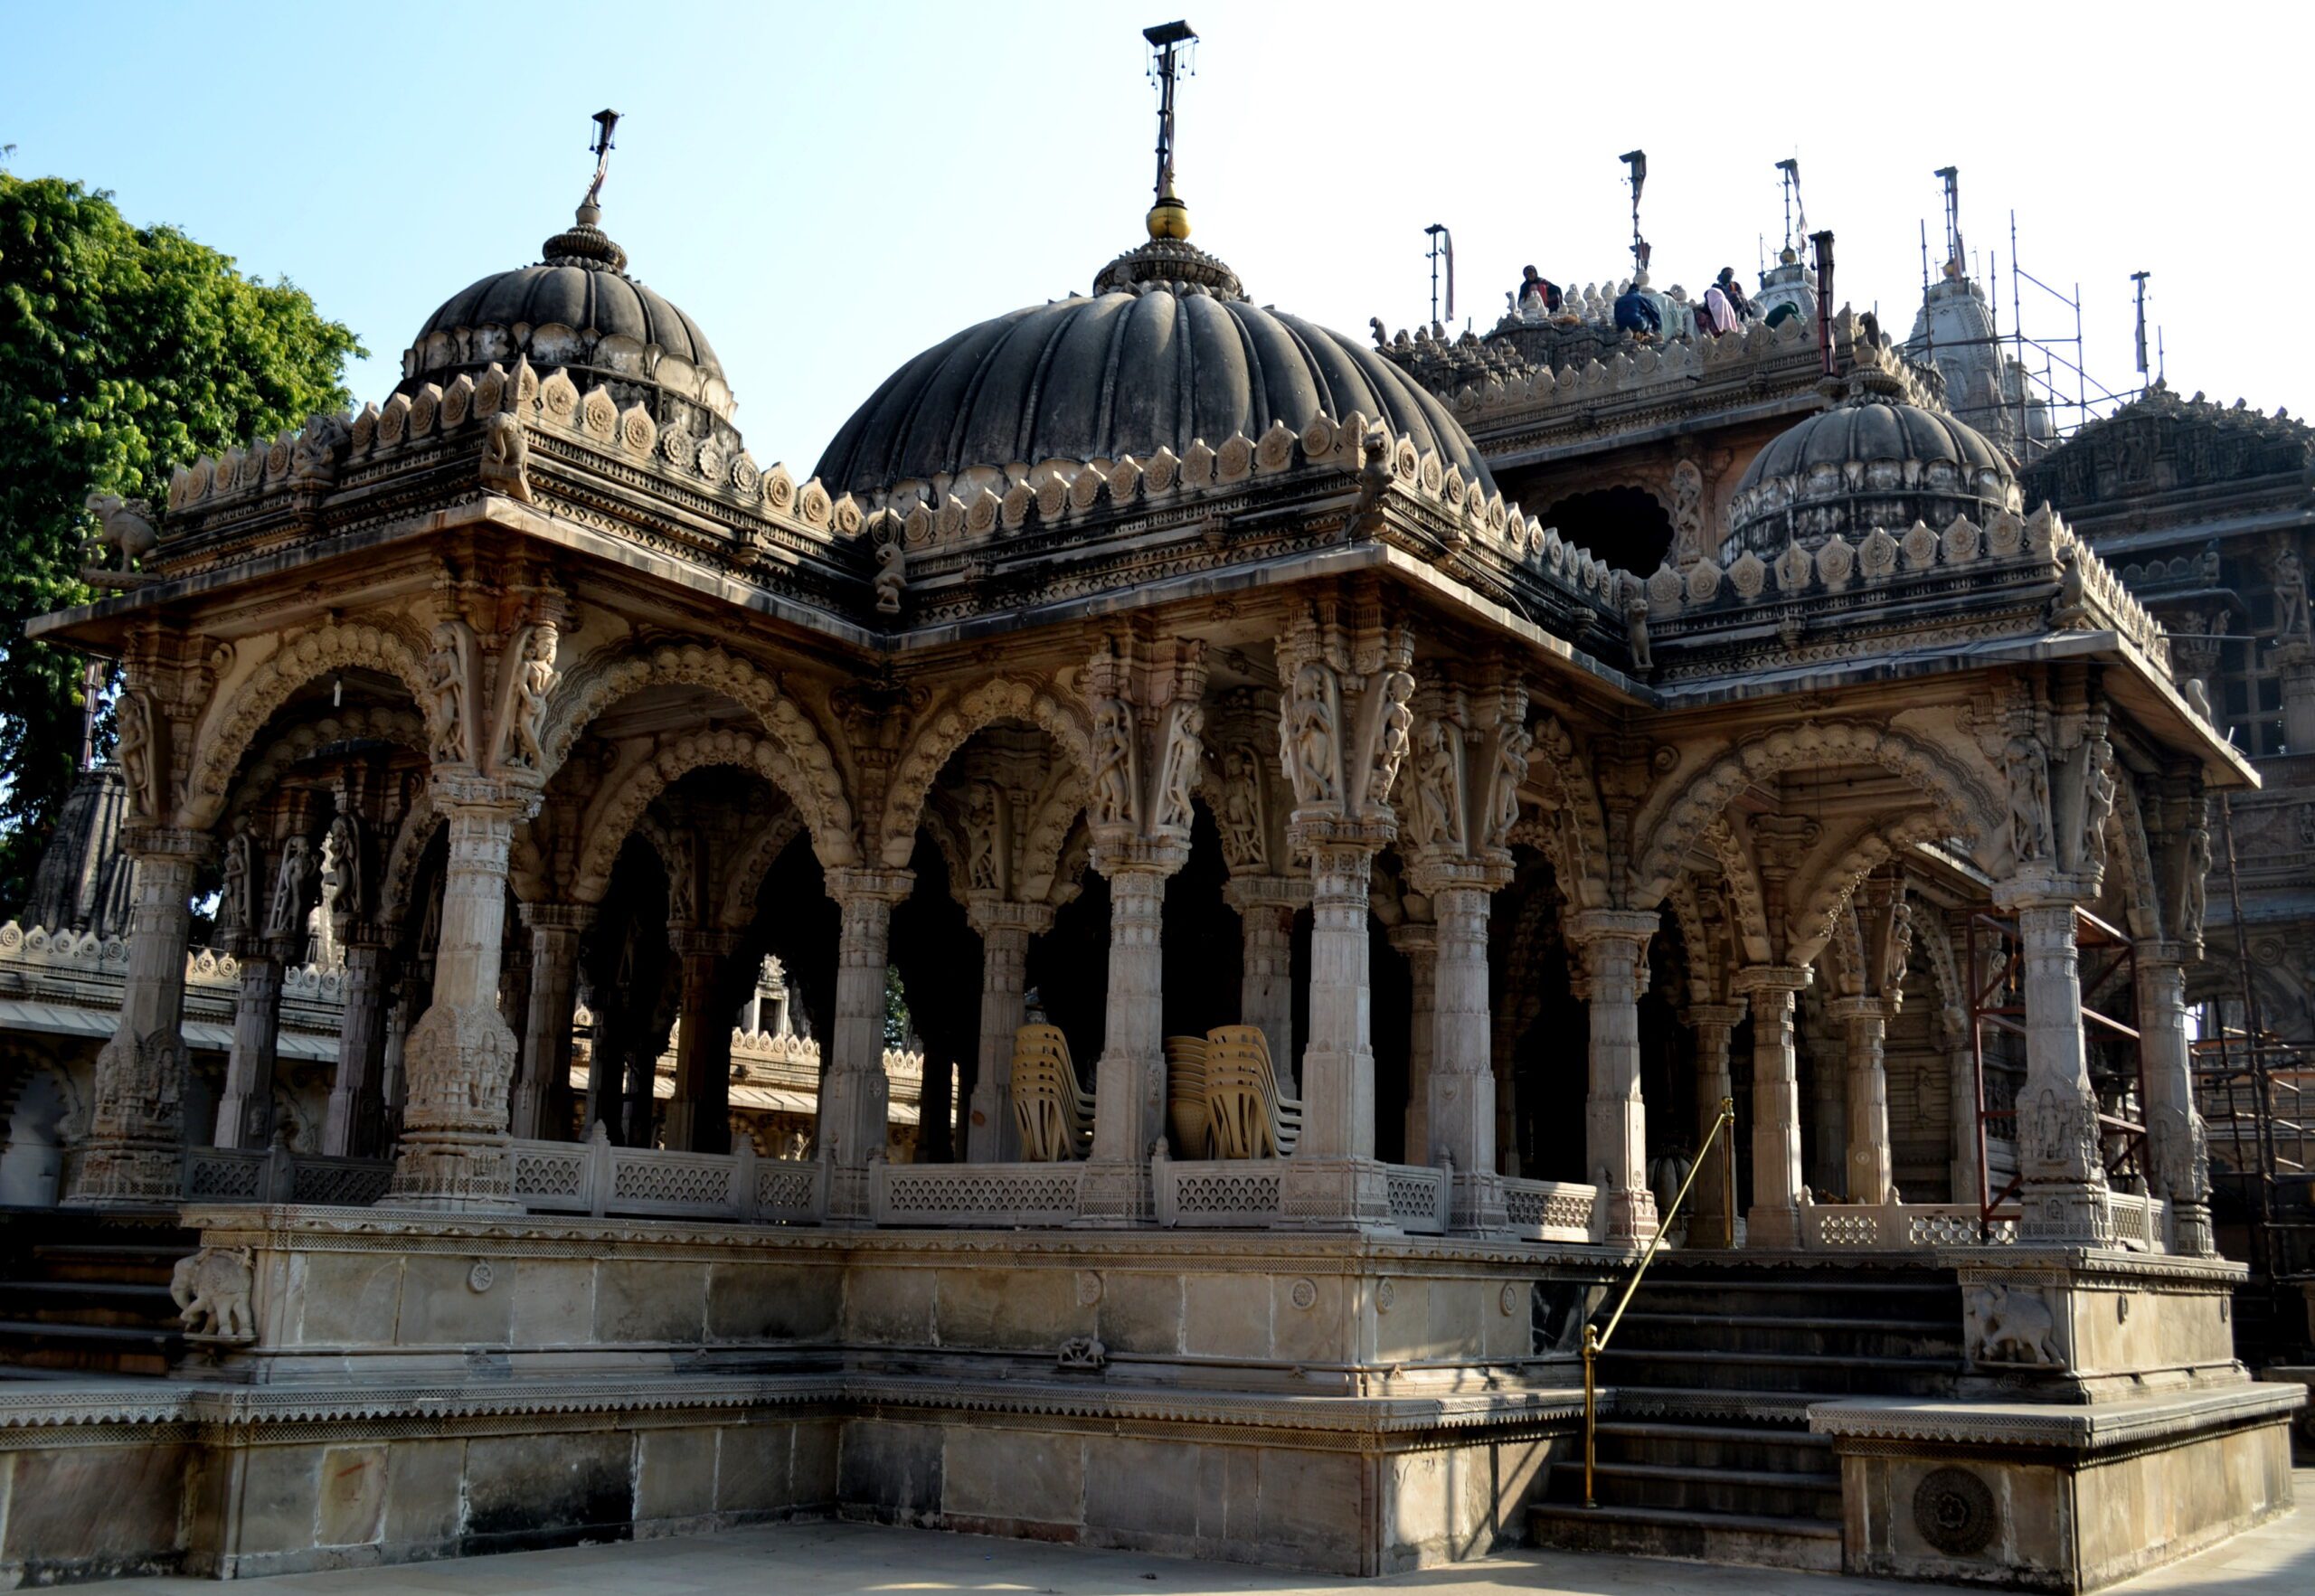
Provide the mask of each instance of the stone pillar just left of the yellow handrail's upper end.
[{"label": "stone pillar just left of the yellow handrail's upper end", "polygon": [[1590,1091],[1583,1163],[1600,1186],[1593,1235],[1609,1246],[1641,1246],[1655,1235],[1648,1191],[1648,1105],[1639,1096],[1639,968],[1655,910],[1593,908],[1567,924],[1581,950],[1581,996],[1590,1008]]}]

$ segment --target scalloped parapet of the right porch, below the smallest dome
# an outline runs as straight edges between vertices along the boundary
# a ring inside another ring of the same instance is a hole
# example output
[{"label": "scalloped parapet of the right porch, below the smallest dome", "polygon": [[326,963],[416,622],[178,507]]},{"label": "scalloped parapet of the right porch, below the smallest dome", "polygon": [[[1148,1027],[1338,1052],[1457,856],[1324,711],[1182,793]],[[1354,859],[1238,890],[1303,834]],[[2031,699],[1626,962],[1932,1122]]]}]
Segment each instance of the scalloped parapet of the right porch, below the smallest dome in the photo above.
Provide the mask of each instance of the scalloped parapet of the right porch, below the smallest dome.
[{"label": "scalloped parapet of the right porch, below the smallest dome", "polygon": [[[2044,505],[2030,517],[1998,514],[1979,528],[1954,517],[1942,530],[1915,521],[1901,537],[1873,528],[1861,542],[1833,535],[1815,547],[1792,542],[1776,561],[1739,554],[1722,568],[1713,558],[1688,570],[1660,565],[1623,581],[1648,595],[1655,642],[1681,642],[1741,621],[1755,612],[1783,618],[1794,605],[1854,605],[1859,595],[1919,595],[1938,602],[1956,577],[1982,577],[1996,586],[2053,584],[2044,623],[2058,630],[2111,630],[2134,644],[2165,672],[2171,667],[2162,623],[2139,605],[2114,570]],[[1982,586],[1972,584],[1972,595]],[[1958,605],[1945,605],[1961,621]],[[1938,623],[1938,616],[1926,621]]]}]

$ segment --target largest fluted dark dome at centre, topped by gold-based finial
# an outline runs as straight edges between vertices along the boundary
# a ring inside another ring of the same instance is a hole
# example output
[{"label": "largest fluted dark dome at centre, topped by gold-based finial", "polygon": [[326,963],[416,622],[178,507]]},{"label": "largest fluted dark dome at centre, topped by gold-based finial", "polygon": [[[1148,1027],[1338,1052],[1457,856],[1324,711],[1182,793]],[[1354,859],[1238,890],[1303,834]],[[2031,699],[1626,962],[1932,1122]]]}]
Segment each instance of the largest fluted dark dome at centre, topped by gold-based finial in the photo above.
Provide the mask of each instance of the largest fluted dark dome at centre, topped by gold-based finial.
[{"label": "largest fluted dark dome at centre, topped by gold-based finial", "polygon": [[[1042,461],[1188,454],[1352,412],[1438,449],[1493,491],[1463,426],[1398,366],[1255,306],[1204,250],[1160,239],[1114,259],[1093,296],[1030,306],[933,345],[863,403],[826,454],[829,491],[947,491]],[[1019,475],[1019,473],[1014,473]]]}]

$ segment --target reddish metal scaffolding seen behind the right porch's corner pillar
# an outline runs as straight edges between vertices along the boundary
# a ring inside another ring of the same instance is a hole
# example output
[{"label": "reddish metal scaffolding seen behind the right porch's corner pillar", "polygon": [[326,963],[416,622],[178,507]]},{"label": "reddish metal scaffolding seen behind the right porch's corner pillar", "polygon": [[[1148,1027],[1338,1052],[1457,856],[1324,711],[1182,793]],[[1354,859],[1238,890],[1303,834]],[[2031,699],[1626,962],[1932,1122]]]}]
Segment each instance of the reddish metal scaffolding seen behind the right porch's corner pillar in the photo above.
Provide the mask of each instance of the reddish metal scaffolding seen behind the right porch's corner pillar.
[{"label": "reddish metal scaffolding seen behind the right porch's corner pillar", "polygon": [[[2116,927],[2086,908],[2074,908],[2074,950],[2081,980],[2081,1031],[2090,1089],[2097,1096],[2097,1144],[2107,1184],[2148,1177],[2146,1158],[2146,1054],[2139,1047],[2137,947]],[[1986,1035],[2026,1040],[2026,945],[2009,915],[1975,913],[1968,924],[1970,1054],[1977,1091],[1977,1223],[2019,1218],[2019,1172],[2012,1163],[2000,1186],[1993,1181],[1993,1142],[2019,1144],[2016,1091],[1986,1091]],[[2100,994],[2121,994],[2121,1015],[2095,1005]]]}]

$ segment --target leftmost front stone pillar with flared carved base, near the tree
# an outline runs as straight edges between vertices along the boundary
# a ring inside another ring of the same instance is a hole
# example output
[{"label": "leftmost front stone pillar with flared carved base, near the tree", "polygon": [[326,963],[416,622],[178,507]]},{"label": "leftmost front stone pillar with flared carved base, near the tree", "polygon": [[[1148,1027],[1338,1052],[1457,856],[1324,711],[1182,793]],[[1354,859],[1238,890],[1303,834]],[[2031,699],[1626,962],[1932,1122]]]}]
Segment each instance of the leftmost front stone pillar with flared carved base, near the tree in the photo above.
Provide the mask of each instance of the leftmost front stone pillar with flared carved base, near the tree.
[{"label": "leftmost front stone pillar with flared carved base, near the tree", "polygon": [[174,1202],[185,1151],[185,934],[192,873],[206,832],[132,827],[120,850],[134,859],[130,966],[120,1019],[97,1054],[88,1144],[72,1174],[72,1207]]}]

